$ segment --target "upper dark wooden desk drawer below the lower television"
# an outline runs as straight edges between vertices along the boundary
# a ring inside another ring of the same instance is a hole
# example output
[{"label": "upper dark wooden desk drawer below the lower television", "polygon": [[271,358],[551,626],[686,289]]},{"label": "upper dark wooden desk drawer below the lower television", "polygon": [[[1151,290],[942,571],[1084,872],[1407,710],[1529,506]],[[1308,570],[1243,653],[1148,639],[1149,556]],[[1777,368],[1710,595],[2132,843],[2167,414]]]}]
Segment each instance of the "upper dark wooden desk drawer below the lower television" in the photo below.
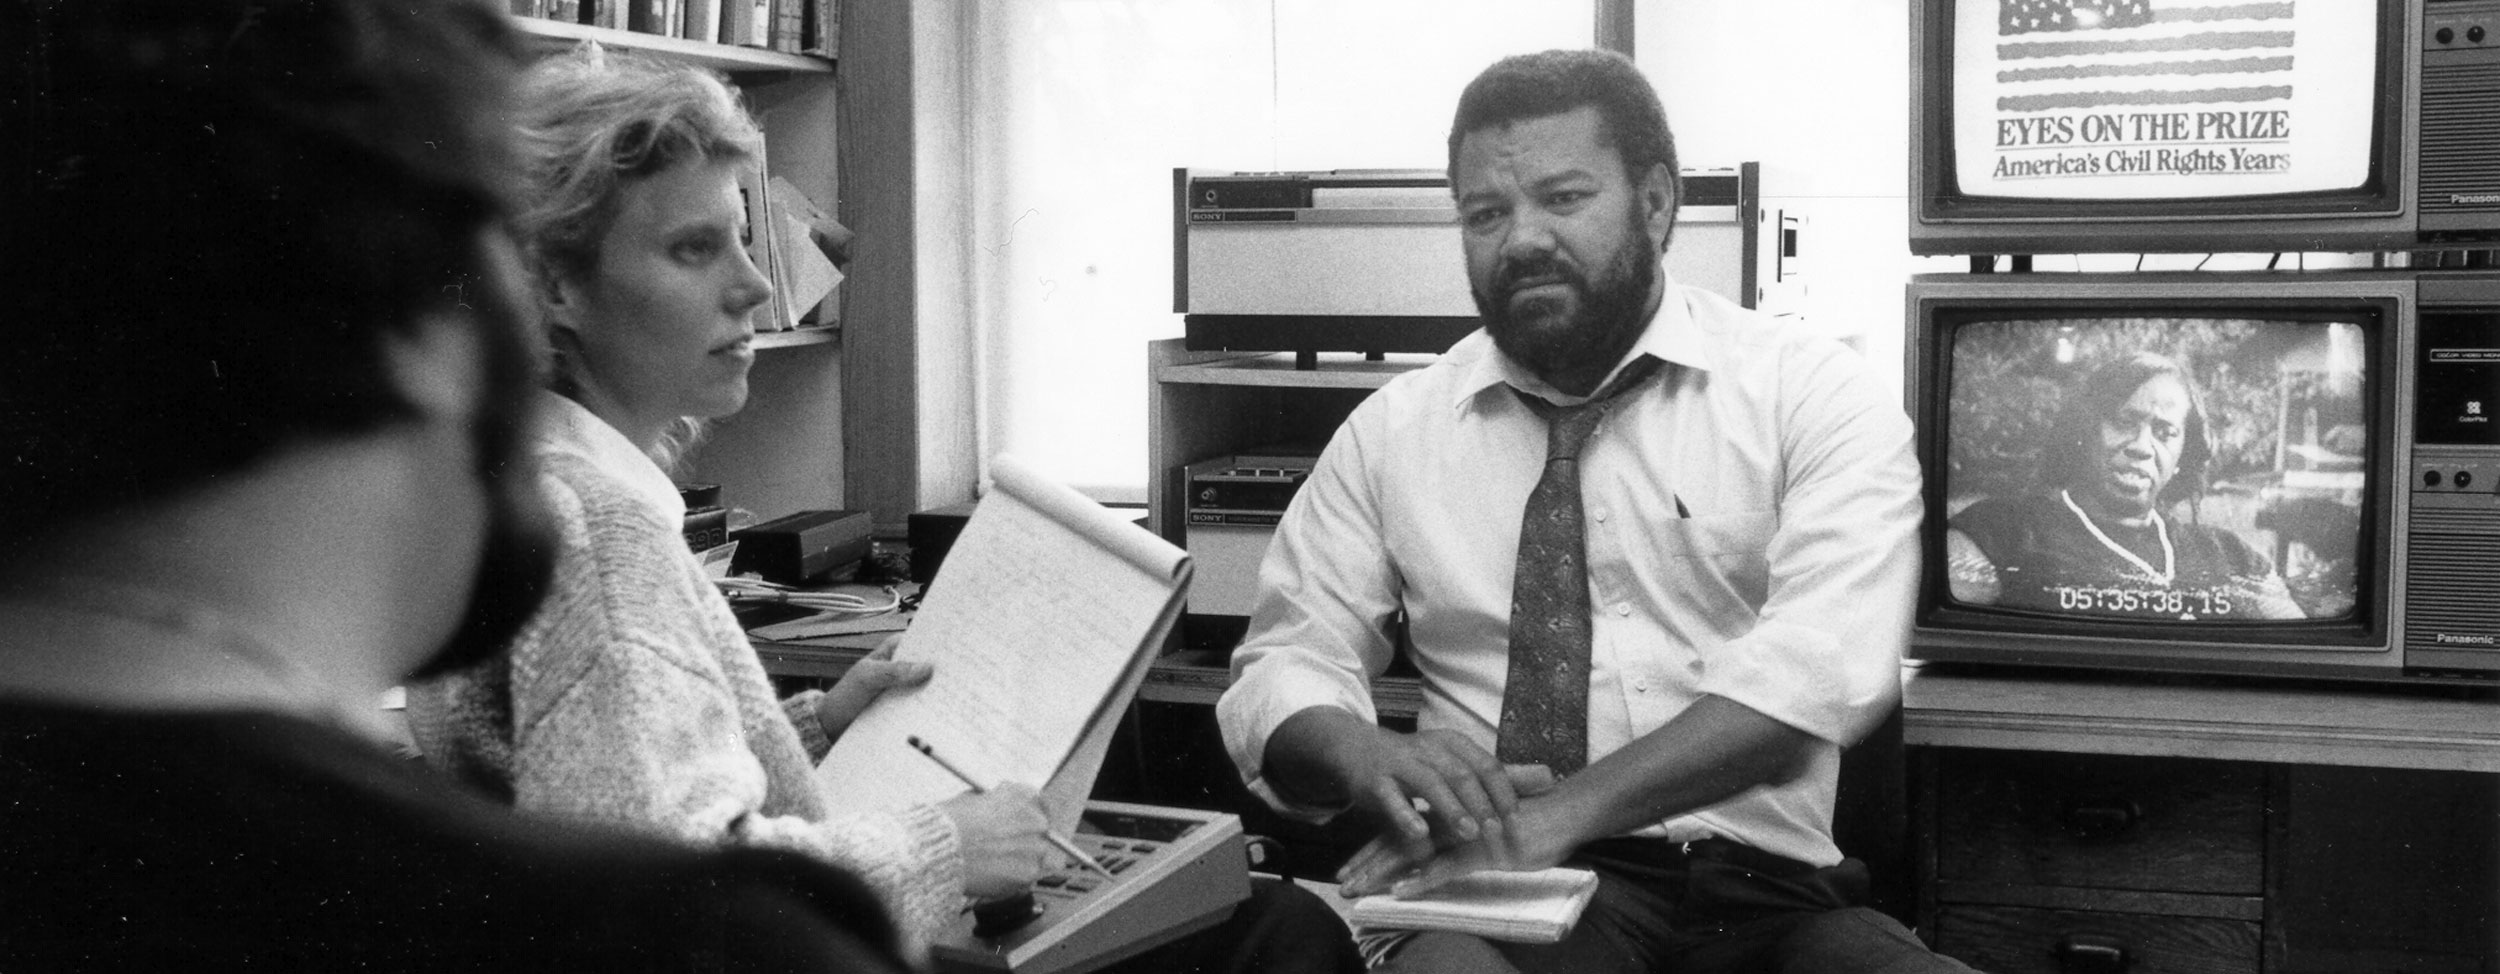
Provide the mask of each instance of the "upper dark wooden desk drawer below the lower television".
[{"label": "upper dark wooden desk drawer below the lower television", "polygon": [[2190,894],[2265,889],[2265,769],[2110,754],[1950,752],[1938,879]]}]

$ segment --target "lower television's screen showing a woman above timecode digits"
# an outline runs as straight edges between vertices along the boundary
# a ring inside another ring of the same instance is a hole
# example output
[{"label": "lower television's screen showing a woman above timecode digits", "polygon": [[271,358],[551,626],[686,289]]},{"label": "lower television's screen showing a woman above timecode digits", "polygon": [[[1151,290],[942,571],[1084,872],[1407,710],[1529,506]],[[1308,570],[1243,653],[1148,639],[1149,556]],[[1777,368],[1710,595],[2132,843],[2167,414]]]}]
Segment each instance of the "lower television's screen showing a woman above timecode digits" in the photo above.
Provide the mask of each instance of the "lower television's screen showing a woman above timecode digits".
[{"label": "lower television's screen showing a woman above timecode digits", "polygon": [[1950,335],[1955,602],[2172,624],[2355,617],[2372,420],[2360,325],[1982,317]]}]

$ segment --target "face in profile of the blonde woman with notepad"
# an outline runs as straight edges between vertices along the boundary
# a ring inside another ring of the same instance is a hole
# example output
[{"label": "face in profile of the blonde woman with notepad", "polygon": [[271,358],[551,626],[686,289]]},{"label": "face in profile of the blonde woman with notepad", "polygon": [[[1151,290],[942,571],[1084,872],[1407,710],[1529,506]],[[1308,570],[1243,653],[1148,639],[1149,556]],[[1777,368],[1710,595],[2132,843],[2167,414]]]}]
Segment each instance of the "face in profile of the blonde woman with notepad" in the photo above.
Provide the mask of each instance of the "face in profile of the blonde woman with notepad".
[{"label": "face in profile of the blonde woman with notepad", "polygon": [[615,222],[590,275],[558,282],[580,337],[592,412],[625,425],[725,417],[748,402],[752,315],[770,280],[742,245],[738,167],[685,162],[618,187]]}]

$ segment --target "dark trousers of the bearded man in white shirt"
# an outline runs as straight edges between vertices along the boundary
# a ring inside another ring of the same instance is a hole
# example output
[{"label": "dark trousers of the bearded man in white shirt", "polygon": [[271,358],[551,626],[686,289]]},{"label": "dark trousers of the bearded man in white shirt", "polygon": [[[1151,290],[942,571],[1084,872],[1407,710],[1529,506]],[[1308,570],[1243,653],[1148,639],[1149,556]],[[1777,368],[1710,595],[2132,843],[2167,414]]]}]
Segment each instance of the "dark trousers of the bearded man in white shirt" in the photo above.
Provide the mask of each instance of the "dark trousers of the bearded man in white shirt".
[{"label": "dark trousers of the bearded man in white shirt", "polygon": [[1605,839],[1565,864],[1595,869],[1598,894],[1560,944],[1418,934],[1380,969],[1970,974],[1960,962],[1928,952],[1892,917],[1865,907],[1868,874],[1858,859],[1815,869],[1720,839],[1690,847]]}]

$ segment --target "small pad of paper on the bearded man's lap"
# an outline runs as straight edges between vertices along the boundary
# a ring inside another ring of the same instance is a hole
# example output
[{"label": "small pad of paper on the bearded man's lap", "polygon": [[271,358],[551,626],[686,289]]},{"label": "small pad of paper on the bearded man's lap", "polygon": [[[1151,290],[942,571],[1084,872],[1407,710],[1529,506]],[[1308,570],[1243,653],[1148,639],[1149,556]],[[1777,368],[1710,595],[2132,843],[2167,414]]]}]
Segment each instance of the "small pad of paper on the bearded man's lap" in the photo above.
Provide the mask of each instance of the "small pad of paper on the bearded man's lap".
[{"label": "small pad of paper on the bearded man's lap", "polygon": [[1355,899],[1348,914],[1365,929],[1448,929],[1520,944],[1552,944],[1570,934],[1598,892],[1588,869],[1478,872],[1428,894]]}]

